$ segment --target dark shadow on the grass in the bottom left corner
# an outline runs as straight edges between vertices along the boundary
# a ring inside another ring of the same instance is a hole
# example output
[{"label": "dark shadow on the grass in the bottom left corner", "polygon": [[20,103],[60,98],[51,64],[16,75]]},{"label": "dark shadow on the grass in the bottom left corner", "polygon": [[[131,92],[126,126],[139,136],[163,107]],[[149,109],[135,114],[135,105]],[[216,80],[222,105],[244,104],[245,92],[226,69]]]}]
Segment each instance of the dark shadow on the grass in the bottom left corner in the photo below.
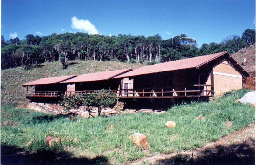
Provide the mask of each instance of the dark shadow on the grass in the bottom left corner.
[{"label": "dark shadow on the grass in the bottom left corner", "polygon": [[22,148],[15,146],[1,145],[1,165],[93,165],[93,164],[109,164],[108,159],[104,156],[95,158],[72,157],[72,154],[66,151],[37,151],[35,153],[24,152]]}]

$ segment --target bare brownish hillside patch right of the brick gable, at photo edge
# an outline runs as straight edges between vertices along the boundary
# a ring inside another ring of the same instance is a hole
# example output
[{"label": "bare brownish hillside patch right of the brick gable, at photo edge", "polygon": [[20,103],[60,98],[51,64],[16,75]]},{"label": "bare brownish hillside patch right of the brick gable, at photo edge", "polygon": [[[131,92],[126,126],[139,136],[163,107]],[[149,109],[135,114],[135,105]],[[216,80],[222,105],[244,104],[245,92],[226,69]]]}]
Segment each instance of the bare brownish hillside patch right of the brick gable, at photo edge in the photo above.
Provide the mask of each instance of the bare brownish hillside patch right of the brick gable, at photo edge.
[{"label": "bare brownish hillside patch right of the brick gable, at photo edge", "polygon": [[249,48],[242,49],[234,54],[232,57],[241,65],[244,58],[246,58],[245,65],[242,67],[255,77],[255,44],[251,45]]}]

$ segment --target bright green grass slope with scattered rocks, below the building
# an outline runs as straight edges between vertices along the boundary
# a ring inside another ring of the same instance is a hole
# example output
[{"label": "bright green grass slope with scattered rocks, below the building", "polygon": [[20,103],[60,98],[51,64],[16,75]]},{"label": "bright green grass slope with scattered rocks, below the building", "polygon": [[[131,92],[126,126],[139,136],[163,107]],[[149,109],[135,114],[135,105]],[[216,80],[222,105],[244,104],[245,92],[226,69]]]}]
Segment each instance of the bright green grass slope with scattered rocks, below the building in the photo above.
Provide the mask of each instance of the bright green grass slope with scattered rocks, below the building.
[{"label": "bright green grass slope with scattered rocks, below the building", "polygon": [[[168,113],[120,114],[113,117],[83,119],[72,122],[68,117],[56,117],[25,109],[2,106],[1,145],[15,146],[24,151],[69,151],[74,156],[104,156],[113,164],[129,162],[158,153],[172,153],[202,147],[221,137],[254,123],[255,109],[250,105],[235,103],[246,90],[227,93],[209,103],[177,105]],[[195,120],[199,115],[205,120]],[[166,128],[165,122],[176,121],[175,128]],[[225,122],[232,122],[225,127]],[[10,122],[10,123],[9,123]],[[109,129],[109,125],[114,125]],[[133,145],[128,137],[133,133],[145,134],[149,152]],[[54,134],[56,133],[56,134]],[[61,137],[60,146],[47,147],[47,136]],[[25,145],[30,139],[35,141]],[[77,142],[71,139],[76,138]]]}]

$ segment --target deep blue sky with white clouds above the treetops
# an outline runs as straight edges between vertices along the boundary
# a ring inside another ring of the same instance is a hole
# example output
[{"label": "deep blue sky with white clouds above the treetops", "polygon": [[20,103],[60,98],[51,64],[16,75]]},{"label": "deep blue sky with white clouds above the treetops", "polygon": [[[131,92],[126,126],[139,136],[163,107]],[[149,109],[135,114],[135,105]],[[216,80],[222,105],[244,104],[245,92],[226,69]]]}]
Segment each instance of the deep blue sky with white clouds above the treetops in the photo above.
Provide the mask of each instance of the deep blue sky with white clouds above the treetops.
[{"label": "deep blue sky with white clouds above the treetops", "polygon": [[201,46],[241,36],[254,20],[255,0],[2,0],[1,34],[7,40],[77,31],[163,39],[185,33]]}]

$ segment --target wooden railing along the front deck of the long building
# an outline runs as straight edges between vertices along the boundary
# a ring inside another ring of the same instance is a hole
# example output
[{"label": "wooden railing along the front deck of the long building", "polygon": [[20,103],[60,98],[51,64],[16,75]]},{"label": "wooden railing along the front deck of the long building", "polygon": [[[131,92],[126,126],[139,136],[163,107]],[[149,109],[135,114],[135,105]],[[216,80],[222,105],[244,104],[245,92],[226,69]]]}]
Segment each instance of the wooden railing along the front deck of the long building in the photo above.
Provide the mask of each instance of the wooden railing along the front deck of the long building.
[{"label": "wooden railing along the front deck of the long building", "polygon": [[[144,88],[144,89],[121,89],[112,90],[121,98],[173,98],[173,97],[200,97],[213,96],[214,86],[205,84],[196,84],[193,86],[176,87],[176,88]],[[82,90],[82,91],[49,91],[49,92],[28,92],[27,97],[60,97],[63,95],[72,96],[82,95],[86,93],[95,92],[96,90]]]}]

